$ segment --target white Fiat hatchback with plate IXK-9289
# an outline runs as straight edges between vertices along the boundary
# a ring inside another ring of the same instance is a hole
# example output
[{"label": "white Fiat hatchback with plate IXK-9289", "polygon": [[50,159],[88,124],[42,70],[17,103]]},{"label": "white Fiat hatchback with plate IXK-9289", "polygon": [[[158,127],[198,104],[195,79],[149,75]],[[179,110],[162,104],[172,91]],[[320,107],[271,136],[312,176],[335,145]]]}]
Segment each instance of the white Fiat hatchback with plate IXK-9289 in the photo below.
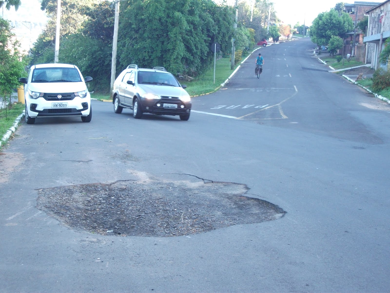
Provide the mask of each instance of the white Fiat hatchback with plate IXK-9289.
[{"label": "white Fiat hatchback with plate IXK-9289", "polygon": [[83,122],[92,119],[91,96],[85,77],[76,65],[53,63],[38,64],[30,68],[25,84],[25,120],[34,124],[40,117],[79,116]]}]

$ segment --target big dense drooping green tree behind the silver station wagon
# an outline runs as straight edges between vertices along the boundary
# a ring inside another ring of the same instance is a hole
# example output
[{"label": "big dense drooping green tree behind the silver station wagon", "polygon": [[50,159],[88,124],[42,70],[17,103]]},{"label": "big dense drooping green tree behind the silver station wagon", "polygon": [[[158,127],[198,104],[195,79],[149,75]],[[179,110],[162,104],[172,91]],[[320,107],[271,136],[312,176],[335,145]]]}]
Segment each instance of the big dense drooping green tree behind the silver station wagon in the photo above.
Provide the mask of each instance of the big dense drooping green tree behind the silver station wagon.
[{"label": "big dense drooping green tree behind the silver station wagon", "polygon": [[[234,12],[211,0],[129,0],[119,23],[119,63],[191,76],[211,62],[213,42],[231,48]],[[137,11],[137,13],[134,13]]]}]

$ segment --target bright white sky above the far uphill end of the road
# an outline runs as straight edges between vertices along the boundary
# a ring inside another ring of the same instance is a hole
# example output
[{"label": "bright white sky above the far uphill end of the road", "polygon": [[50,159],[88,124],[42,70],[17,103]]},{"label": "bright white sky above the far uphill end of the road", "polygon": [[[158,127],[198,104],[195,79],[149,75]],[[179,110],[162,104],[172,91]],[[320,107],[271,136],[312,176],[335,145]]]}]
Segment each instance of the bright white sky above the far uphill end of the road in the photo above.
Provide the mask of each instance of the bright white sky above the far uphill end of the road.
[{"label": "bright white sky above the far uphill end of the road", "polygon": [[[331,8],[335,7],[336,3],[342,2],[333,1],[333,0],[271,0],[274,3],[275,10],[277,11],[277,16],[285,24],[295,25],[298,21],[303,25],[310,26],[314,18],[321,12],[329,11]],[[353,3],[353,1],[343,2]],[[378,0],[378,2],[380,2]]]}]

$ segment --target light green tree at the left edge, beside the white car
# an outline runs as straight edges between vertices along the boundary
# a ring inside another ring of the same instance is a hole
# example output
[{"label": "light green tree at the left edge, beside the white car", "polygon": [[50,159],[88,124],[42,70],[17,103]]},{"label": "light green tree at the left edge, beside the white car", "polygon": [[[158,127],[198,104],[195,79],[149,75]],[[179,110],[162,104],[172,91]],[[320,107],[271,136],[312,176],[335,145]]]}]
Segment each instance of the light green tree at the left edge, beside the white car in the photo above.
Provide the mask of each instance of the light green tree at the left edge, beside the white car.
[{"label": "light green tree at the left edge, beside the white car", "polygon": [[19,78],[26,74],[18,48],[9,21],[0,18],[0,96],[9,107],[12,107],[11,94],[20,85]]}]

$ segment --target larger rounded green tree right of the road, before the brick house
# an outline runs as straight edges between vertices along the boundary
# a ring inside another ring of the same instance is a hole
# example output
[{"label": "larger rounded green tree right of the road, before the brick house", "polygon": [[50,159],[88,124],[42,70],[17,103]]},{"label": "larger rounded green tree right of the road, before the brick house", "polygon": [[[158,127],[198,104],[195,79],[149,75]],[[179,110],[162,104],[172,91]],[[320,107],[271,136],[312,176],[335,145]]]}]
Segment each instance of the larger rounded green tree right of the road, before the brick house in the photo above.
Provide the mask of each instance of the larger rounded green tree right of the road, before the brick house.
[{"label": "larger rounded green tree right of the road, before the brick house", "polygon": [[327,45],[332,36],[344,38],[352,29],[353,21],[349,14],[342,12],[339,16],[334,9],[331,9],[329,12],[318,14],[313,20],[310,38],[318,46]]}]

